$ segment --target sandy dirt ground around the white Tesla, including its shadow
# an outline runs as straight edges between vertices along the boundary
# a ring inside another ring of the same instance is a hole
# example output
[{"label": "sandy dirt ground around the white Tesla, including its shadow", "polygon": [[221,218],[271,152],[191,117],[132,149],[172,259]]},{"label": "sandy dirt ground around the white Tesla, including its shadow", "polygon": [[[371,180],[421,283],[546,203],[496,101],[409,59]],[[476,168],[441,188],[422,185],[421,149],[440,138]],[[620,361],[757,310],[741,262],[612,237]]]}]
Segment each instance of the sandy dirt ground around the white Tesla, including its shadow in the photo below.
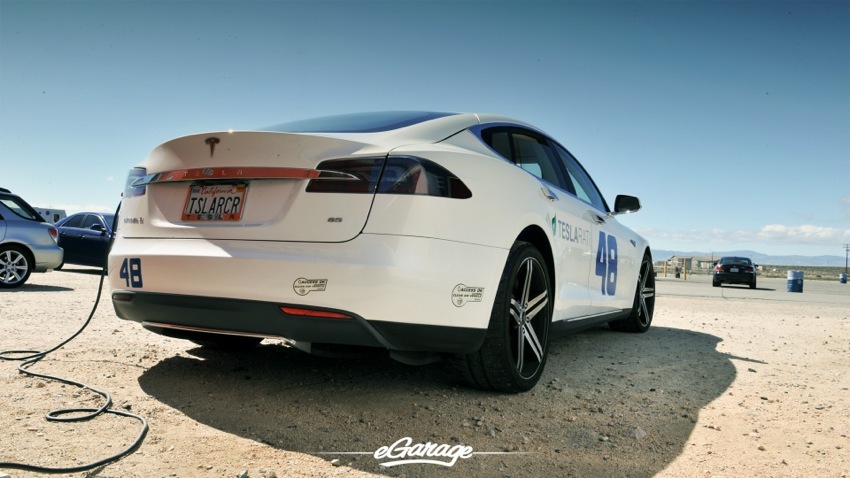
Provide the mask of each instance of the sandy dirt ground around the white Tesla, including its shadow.
[{"label": "sandy dirt ground around the white Tesla, including its shadow", "polygon": [[[0,350],[73,334],[98,279],[69,266],[0,291]],[[108,291],[88,329],[32,370],[106,390],[150,425],[131,455],[61,476],[850,477],[850,285],[759,286],[659,278],[649,332],[557,338],[540,384],[518,395],[383,354],[319,358],[269,340],[210,352],[116,318]],[[78,466],[139,434],[118,415],[46,421],[102,399],[18,365],[0,361],[0,462]],[[382,466],[375,452],[405,437],[472,454]],[[44,476],[0,466],[6,475]]]}]

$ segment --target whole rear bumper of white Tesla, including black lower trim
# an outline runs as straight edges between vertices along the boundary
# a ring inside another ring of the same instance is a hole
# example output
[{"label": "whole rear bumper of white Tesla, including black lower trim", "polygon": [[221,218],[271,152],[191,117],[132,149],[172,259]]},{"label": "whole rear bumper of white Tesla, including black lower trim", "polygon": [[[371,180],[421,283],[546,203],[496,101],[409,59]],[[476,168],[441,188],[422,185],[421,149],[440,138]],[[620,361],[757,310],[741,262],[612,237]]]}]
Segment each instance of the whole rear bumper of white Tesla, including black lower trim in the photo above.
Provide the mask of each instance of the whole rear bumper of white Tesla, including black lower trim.
[{"label": "whole rear bumper of white Tesla, including black lower trim", "polygon": [[[108,279],[118,317],[166,335],[182,327],[468,352],[483,340],[507,252],[371,234],[333,244],[119,238]],[[129,261],[137,270],[122,273]],[[461,300],[462,286],[480,294]],[[281,306],[352,318],[289,315]]]}]

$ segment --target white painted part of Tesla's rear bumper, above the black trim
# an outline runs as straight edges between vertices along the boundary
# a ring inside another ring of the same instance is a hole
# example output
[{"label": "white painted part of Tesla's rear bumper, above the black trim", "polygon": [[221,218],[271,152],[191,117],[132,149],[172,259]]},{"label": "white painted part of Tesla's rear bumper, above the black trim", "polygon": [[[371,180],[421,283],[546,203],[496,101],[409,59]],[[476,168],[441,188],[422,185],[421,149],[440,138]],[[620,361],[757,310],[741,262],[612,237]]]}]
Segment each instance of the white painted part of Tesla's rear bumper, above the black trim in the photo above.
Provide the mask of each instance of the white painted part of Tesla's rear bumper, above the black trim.
[{"label": "white painted part of Tesla's rear bumper, above the black trim", "polygon": [[[145,290],[198,295],[202,288],[211,297],[326,308],[345,304],[347,311],[375,321],[486,328],[507,251],[361,234],[341,244],[128,239],[116,242],[112,254],[142,260]],[[447,272],[446,263],[458,267]],[[110,263],[115,289],[129,285],[120,278],[120,267],[118,261]],[[326,288],[301,295],[299,279],[322,279]],[[452,291],[458,284],[483,288],[482,300],[455,306]]]}]

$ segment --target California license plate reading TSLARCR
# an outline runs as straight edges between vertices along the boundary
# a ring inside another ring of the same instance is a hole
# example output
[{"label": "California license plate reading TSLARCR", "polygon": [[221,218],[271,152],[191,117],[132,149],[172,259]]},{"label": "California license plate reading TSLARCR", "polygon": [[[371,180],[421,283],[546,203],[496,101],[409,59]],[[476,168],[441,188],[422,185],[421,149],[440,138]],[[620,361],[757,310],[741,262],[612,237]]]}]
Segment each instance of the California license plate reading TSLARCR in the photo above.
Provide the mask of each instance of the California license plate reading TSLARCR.
[{"label": "California license plate reading TSLARCR", "polygon": [[247,193],[247,184],[191,186],[183,207],[183,220],[238,221],[242,219]]}]

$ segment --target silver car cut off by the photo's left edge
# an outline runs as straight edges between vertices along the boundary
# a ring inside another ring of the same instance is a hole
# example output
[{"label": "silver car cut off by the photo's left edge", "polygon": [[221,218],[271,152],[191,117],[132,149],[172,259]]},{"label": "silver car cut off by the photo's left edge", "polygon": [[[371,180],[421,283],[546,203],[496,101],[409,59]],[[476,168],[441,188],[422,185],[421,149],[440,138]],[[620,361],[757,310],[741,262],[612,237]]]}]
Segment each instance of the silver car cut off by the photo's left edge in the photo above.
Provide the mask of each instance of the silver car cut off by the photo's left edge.
[{"label": "silver car cut off by the photo's left edge", "polygon": [[20,196],[0,188],[0,288],[20,287],[32,272],[62,264],[59,233]]}]

